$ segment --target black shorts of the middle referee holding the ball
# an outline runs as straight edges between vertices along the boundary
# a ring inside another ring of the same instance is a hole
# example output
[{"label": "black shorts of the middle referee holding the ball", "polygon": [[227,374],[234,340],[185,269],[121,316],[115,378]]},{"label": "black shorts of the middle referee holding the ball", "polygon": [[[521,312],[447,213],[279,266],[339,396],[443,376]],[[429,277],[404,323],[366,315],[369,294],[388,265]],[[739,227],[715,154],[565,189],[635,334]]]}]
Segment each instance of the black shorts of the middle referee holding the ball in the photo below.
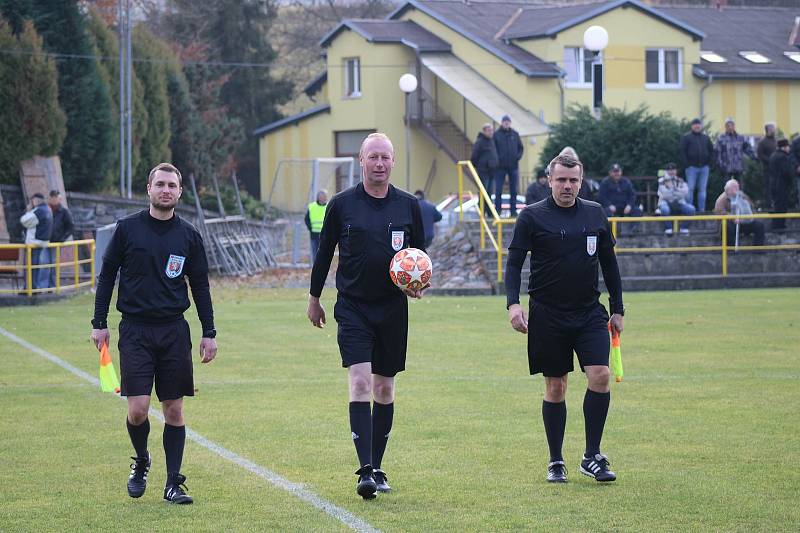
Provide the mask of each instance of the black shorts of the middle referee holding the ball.
[{"label": "black shorts of the middle referee holding the ball", "polygon": [[333,316],[342,366],[372,363],[372,373],[392,377],[406,368],[408,300],[404,294],[378,302],[339,295]]}]

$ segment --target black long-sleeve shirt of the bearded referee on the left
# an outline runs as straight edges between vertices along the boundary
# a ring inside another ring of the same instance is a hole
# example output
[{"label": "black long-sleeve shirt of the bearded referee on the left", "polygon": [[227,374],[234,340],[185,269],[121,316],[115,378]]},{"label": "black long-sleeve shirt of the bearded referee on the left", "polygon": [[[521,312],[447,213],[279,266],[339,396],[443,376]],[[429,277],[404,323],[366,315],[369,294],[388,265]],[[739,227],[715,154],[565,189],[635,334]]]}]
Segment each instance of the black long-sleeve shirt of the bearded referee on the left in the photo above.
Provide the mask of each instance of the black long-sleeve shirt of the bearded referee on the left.
[{"label": "black long-sleeve shirt of the bearded referee on the left", "polygon": [[117,222],[97,280],[95,328],[108,327],[108,307],[118,271],[117,309],[122,318],[146,324],[180,319],[189,308],[187,277],[203,332],[214,329],[203,238],[177,214],[158,220],[144,210]]}]

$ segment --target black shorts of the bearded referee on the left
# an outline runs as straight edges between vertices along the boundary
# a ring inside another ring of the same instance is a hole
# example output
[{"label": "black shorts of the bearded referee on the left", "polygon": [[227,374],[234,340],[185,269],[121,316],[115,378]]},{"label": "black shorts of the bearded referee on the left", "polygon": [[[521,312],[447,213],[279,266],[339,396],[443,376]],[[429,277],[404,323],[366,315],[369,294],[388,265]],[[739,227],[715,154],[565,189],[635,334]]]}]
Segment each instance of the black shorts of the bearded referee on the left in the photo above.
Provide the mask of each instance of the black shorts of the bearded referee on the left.
[{"label": "black shorts of the bearded referee on the left", "polygon": [[120,393],[150,396],[153,381],[159,401],[194,396],[192,340],[184,319],[167,324],[119,324]]}]

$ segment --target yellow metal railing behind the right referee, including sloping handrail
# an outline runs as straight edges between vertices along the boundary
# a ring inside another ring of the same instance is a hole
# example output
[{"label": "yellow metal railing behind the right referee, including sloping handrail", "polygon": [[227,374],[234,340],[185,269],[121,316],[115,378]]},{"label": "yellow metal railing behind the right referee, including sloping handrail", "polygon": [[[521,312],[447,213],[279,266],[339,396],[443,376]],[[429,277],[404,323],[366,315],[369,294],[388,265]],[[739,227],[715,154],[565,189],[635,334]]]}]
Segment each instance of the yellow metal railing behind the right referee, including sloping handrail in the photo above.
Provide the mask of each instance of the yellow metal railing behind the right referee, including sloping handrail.
[{"label": "yellow metal railing behind the right referee, including sloping handrail", "polygon": [[[465,174],[468,180],[471,180],[472,183],[475,185],[476,189],[478,190],[479,196],[479,206],[478,206],[478,219],[479,225],[481,229],[480,233],[480,244],[479,247],[481,250],[486,249],[486,236],[489,236],[489,240],[491,243],[492,248],[495,250],[497,254],[497,281],[503,281],[503,257],[506,255],[507,251],[505,245],[503,243],[503,229],[507,225],[516,224],[517,220],[515,218],[500,218],[497,211],[494,209],[494,205],[492,204],[491,197],[486,192],[486,189],[483,187],[483,183],[481,183],[480,178],[478,177],[478,173],[475,171],[475,168],[472,166],[470,161],[459,161],[456,163],[456,169],[458,171],[458,198],[459,198],[459,221],[464,220],[464,180]],[[466,169],[466,173],[465,170]],[[490,208],[491,216],[486,217],[484,214],[484,205],[488,202],[488,206]],[[614,234],[616,237],[617,233],[617,226],[619,224],[626,224],[626,223],[637,223],[637,222],[672,222],[674,231],[677,233],[678,231],[678,223],[682,221],[702,221],[702,220],[713,220],[713,221],[736,221],[736,220],[750,220],[750,219],[774,219],[774,218],[800,218],[800,213],[755,213],[751,215],[670,215],[670,216],[644,216],[644,217],[609,217],[609,222],[611,223],[611,233]],[[492,230],[489,227],[489,222],[496,228],[497,236],[492,235]],[[712,246],[669,246],[663,248],[652,248],[652,247],[642,247],[642,248],[624,248],[624,247],[616,247],[616,253],[665,253],[665,252],[720,252],[722,254],[722,276],[728,276],[728,253],[733,251],[752,251],[752,250],[800,250],[800,244],[765,244],[761,246],[743,246],[739,244],[735,244],[733,246],[728,245],[728,225],[727,224],[720,224],[722,227],[721,232],[721,244],[712,245]]]}]

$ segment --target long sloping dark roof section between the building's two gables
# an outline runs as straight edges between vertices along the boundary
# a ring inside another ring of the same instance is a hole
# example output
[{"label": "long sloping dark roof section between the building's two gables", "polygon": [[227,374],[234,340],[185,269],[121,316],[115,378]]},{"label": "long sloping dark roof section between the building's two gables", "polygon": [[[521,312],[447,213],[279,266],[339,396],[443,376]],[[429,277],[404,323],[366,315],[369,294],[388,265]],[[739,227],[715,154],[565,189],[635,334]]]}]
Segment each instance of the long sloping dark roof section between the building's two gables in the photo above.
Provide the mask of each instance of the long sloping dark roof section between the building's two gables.
[{"label": "long sloping dark roof section between the building's two gables", "polygon": [[524,75],[556,78],[561,74],[561,69],[554,63],[544,61],[511,42],[495,38],[509,18],[522,6],[524,4],[513,1],[409,0],[388,18],[398,19],[408,10],[418,9]]}]

